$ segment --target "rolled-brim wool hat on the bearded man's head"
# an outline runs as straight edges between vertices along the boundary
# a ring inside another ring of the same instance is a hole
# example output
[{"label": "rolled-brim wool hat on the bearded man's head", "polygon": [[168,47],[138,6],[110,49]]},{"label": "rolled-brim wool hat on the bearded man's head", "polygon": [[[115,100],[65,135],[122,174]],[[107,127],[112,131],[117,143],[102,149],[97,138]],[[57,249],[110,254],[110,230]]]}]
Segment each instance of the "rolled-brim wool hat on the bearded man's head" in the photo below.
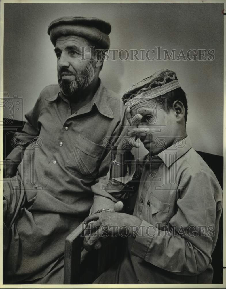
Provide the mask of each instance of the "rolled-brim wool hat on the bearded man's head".
[{"label": "rolled-brim wool hat on the bearded man's head", "polygon": [[76,35],[98,44],[100,48],[109,49],[111,25],[96,17],[61,17],[52,21],[48,27],[52,44],[60,36]]}]

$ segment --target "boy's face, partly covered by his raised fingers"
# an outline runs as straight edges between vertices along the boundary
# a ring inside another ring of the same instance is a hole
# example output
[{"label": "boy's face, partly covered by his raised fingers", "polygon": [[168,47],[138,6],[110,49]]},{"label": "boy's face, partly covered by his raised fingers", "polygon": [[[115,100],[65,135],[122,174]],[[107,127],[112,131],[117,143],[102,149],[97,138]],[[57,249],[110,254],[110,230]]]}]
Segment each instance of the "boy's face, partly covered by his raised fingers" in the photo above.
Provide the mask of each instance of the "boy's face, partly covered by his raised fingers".
[{"label": "boy's face, partly covered by his raised fingers", "polygon": [[132,117],[141,114],[142,119],[134,123],[138,128],[148,127],[149,132],[138,136],[151,155],[157,155],[170,147],[178,136],[176,111],[166,113],[165,99],[151,99],[131,108]]}]

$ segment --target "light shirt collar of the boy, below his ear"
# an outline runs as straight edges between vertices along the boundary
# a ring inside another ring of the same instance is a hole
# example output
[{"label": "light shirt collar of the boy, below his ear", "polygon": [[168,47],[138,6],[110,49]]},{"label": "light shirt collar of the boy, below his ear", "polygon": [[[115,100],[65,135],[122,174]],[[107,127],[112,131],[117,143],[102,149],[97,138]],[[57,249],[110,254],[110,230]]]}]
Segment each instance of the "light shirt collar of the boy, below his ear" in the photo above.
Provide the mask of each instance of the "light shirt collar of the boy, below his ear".
[{"label": "light shirt collar of the boy, below his ear", "polygon": [[[174,143],[171,147],[168,147],[164,151],[161,151],[157,156],[164,162],[169,168],[174,162],[176,162],[182,155],[187,153],[191,149],[192,144],[189,136],[183,138],[179,142]],[[153,156],[152,158],[155,158]]]}]

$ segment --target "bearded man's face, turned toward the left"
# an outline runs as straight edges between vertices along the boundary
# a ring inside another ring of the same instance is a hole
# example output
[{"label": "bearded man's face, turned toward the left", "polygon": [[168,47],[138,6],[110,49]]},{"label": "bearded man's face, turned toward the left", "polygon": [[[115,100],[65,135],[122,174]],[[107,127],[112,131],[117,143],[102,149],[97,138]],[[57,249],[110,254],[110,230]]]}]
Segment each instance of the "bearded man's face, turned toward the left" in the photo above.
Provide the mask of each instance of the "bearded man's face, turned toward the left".
[{"label": "bearded man's face, turned toward the left", "polygon": [[[82,48],[82,46],[84,48]],[[60,90],[66,97],[89,86],[96,72],[90,43],[79,36],[61,36],[54,49]],[[84,53],[85,52],[85,53]]]}]

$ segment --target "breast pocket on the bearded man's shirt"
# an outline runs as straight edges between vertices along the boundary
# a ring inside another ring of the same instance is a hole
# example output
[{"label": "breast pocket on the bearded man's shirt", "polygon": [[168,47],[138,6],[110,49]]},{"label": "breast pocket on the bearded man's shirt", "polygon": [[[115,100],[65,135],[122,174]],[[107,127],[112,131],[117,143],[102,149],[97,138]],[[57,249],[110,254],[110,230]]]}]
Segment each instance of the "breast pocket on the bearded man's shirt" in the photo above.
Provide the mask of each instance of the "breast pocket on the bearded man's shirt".
[{"label": "breast pocket on the bearded man's shirt", "polygon": [[103,146],[79,134],[65,167],[71,173],[95,178],[103,152]]}]

